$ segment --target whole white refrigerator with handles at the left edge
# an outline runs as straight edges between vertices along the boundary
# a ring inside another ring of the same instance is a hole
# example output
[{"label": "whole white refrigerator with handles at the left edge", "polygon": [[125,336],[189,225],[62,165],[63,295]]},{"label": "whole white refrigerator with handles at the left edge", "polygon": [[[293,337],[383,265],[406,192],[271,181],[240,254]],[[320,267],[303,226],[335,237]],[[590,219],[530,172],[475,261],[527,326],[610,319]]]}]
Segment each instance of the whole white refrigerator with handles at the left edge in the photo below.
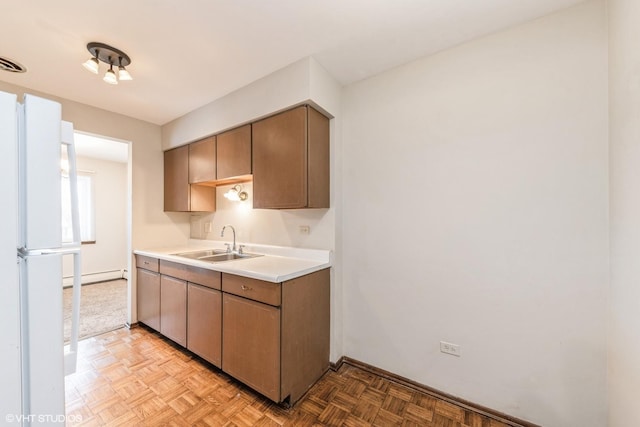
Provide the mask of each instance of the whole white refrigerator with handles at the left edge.
[{"label": "whole white refrigerator with handles at the left edge", "polygon": [[[57,102],[0,92],[0,425],[64,425],[75,371],[80,233],[73,126]],[[72,241],[62,242],[61,156]],[[66,182],[66,180],[65,180]],[[63,337],[62,256],[74,257],[72,332]]]}]

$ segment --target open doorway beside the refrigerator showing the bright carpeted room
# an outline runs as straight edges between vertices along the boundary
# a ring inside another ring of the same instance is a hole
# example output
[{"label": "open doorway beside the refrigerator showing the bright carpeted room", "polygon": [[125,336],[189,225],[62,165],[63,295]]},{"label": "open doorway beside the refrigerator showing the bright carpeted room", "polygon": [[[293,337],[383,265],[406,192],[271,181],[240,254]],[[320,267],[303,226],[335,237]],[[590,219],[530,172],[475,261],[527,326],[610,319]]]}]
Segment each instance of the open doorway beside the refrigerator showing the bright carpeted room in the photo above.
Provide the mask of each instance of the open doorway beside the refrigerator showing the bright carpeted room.
[{"label": "open doorway beside the refrigerator showing the bright carpeted room", "polygon": [[[79,131],[74,141],[82,238],[78,338],[83,339],[124,327],[130,319],[132,150],[129,141]],[[64,256],[65,342],[71,332],[72,279],[73,257]]]}]

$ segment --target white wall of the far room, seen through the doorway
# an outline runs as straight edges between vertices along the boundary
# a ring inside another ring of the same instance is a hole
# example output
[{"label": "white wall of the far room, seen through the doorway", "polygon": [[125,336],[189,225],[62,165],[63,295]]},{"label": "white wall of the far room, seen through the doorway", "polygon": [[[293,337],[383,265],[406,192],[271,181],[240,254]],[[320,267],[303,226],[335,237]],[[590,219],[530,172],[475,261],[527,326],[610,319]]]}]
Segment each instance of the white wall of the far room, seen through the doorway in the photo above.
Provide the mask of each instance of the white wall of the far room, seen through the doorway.
[{"label": "white wall of the far room, seen through the doorway", "polygon": [[[95,281],[97,273],[127,269],[127,164],[78,157],[80,172],[92,172],[95,195],[96,243],[82,245],[84,282]],[[63,276],[73,275],[71,256],[65,257]]]}]

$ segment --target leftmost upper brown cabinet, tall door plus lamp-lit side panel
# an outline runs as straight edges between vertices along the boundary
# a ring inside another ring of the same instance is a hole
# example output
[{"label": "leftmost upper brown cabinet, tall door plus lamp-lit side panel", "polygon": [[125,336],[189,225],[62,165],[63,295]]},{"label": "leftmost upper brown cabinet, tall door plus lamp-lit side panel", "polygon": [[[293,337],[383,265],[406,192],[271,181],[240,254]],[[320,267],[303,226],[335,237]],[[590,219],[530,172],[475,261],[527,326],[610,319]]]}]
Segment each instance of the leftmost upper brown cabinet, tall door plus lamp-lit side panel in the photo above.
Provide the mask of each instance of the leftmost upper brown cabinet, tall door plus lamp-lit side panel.
[{"label": "leftmost upper brown cabinet, tall door plus lamp-lit side panel", "polygon": [[190,183],[189,151],[190,146],[185,145],[164,152],[165,212],[212,212],[216,210],[216,189]]}]

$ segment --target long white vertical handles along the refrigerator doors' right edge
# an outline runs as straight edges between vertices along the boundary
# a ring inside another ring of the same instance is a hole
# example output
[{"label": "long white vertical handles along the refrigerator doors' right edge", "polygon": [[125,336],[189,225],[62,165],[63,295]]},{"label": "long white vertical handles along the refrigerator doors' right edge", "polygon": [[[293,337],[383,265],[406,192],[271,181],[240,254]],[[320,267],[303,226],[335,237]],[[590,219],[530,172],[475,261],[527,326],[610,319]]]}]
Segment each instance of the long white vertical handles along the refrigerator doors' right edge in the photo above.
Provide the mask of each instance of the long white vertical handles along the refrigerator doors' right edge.
[{"label": "long white vertical handles along the refrigerator doors' right edge", "polygon": [[69,185],[71,192],[71,227],[73,242],[63,245],[62,250],[73,253],[73,302],[71,308],[71,337],[69,351],[64,355],[64,373],[72,374],[76,371],[78,360],[78,331],[80,327],[80,286],[82,275],[82,258],[80,251],[80,208],[78,204],[78,170],[76,168],[76,148],[73,142],[73,125],[62,122],[62,143],[67,146],[69,159]]}]

